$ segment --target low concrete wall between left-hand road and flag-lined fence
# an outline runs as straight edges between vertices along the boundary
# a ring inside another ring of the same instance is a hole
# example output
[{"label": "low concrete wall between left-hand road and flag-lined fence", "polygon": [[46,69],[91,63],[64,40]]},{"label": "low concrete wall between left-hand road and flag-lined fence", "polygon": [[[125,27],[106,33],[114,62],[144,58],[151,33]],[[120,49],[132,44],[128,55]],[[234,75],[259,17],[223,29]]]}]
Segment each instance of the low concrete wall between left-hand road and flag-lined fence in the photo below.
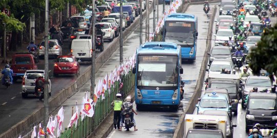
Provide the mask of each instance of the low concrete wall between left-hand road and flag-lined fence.
[{"label": "low concrete wall between left-hand road and flag-lined fence", "polygon": [[[153,10],[153,4],[150,6],[150,11]],[[143,17],[146,16],[146,12],[143,12]],[[125,40],[132,31],[140,25],[140,17],[138,16],[135,18],[134,22],[123,32],[123,40]],[[109,48],[103,51],[95,60],[95,71],[97,72],[102,65],[111,57],[111,55],[120,47],[120,37],[116,37],[111,43]],[[81,74],[75,82],[71,83],[66,88],[58,91],[55,96],[50,97],[49,99],[49,112],[50,114],[57,110],[58,107],[62,105],[68,98],[74,95],[78,88],[83,86],[89,79],[91,75],[91,66],[89,66],[86,71]],[[49,115],[50,115],[49,114]],[[0,138],[10,138],[10,137],[18,137],[19,135],[25,135],[29,133],[33,126],[39,124],[44,117],[44,107],[40,107],[39,109],[35,110],[32,114],[27,116],[21,122],[18,122],[14,126],[12,126],[9,130],[2,133]]]}]

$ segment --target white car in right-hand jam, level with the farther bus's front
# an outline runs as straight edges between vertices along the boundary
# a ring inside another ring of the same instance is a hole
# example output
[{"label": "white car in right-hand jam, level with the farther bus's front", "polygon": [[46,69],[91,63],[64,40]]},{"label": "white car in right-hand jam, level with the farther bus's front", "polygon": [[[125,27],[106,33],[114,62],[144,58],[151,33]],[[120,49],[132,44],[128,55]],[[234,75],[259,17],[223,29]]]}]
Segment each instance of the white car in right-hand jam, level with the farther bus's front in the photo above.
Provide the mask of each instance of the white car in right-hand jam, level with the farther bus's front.
[{"label": "white car in right-hand jam, level with the farther bus's front", "polygon": [[231,41],[234,40],[234,34],[232,29],[219,29],[215,36],[215,45],[222,45],[225,41],[229,41],[229,36],[231,36]]}]

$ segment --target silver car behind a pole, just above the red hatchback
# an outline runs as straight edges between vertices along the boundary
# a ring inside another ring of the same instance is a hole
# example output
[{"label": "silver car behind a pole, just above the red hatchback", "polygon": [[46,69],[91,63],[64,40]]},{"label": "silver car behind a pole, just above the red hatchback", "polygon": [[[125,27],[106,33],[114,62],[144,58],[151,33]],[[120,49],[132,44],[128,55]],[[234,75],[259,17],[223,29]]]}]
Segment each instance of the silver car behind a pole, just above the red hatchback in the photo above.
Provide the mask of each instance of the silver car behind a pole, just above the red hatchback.
[{"label": "silver car behind a pole, just above the red hatchback", "polygon": [[[45,53],[45,47],[44,47],[45,43],[44,41],[41,42],[41,44],[38,45],[38,52],[37,55],[40,58],[44,57],[44,53]],[[63,49],[60,45],[60,43],[58,43],[57,39],[50,39],[48,40],[48,45],[49,45],[49,49],[48,49],[48,54],[49,56],[60,56],[63,54]]]}]

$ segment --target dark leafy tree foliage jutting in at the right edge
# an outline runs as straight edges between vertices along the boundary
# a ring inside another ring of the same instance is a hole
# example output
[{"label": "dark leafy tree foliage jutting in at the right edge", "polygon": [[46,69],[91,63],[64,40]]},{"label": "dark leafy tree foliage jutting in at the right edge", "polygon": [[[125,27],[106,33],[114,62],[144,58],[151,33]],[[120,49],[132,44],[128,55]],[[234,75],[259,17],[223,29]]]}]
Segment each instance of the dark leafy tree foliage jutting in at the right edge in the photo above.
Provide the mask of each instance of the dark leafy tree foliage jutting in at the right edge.
[{"label": "dark leafy tree foliage jutting in at the right edge", "polygon": [[265,32],[258,42],[258,47],[249,55],[250,67],[254,74],[259,74],[261,69],[277,75],[277,24]]}]

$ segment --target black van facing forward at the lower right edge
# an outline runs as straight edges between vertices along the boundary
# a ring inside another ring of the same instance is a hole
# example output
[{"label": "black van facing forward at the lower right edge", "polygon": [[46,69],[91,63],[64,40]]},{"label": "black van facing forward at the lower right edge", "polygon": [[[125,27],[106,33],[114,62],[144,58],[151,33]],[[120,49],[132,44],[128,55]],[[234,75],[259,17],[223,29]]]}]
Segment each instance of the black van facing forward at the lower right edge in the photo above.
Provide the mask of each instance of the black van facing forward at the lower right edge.
[{"label": "black van facing forward at the lower right edge", "polygon": [[250,93],[248,97],[245,130],[249,132],[256,123],[261,128],[273,129],[277,122],[277,96],[275,93]]}]

